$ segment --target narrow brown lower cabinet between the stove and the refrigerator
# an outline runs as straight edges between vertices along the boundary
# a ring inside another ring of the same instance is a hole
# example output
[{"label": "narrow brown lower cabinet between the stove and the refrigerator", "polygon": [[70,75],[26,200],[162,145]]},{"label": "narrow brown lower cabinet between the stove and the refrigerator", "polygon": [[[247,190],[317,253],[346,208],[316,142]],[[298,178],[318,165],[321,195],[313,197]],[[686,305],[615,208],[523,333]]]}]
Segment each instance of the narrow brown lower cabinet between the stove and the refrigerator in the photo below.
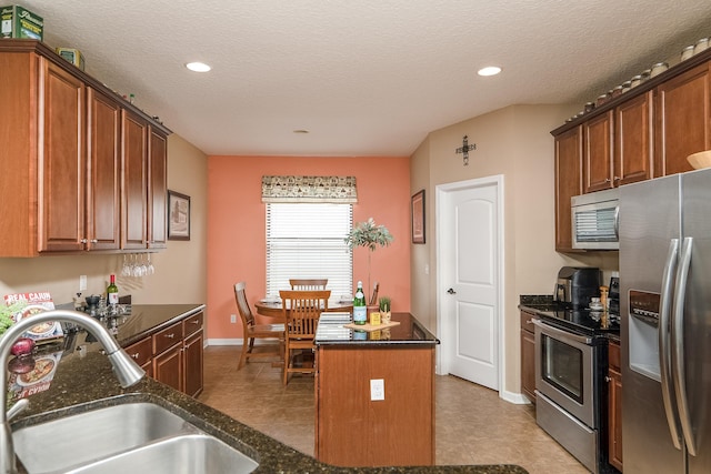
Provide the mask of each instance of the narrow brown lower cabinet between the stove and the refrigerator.
[{"label": "narrow brown lower cabinet between the stove and the refrigerator", "polygon": [[608,457],[622,472],[622,373],[618,342],[610,341],[608,357]]}]

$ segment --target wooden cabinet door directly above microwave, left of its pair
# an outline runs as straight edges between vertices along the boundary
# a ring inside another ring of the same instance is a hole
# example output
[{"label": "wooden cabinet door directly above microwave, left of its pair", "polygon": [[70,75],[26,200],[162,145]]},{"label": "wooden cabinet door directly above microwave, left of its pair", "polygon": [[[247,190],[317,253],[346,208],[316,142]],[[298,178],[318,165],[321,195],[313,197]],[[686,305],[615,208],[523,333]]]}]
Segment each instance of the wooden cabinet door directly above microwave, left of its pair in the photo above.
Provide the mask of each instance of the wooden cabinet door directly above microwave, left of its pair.
[{"label": "wooden cabinet door directly above microwave, left of its pair", "polygon": [[612,111],[582,124],[584,131],[583,193],[612,188]]}]

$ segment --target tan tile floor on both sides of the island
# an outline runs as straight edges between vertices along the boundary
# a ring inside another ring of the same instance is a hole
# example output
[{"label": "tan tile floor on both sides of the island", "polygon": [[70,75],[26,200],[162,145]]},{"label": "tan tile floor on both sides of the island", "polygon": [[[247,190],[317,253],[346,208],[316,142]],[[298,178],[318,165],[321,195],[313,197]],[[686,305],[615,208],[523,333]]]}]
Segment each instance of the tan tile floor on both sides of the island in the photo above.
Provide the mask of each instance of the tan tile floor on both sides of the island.
[{"label": "tan tile floor on both sides of the island", "polygon": [[[204,352],[200,401],[284,444],[313,455],[313,377],[250,362],[237,371],[238,346]],[[518,464],[531,474],[588,471],[535,424],[531,405],[514,405],[497,392],[451,375],[437,376],[437,464]]]}]

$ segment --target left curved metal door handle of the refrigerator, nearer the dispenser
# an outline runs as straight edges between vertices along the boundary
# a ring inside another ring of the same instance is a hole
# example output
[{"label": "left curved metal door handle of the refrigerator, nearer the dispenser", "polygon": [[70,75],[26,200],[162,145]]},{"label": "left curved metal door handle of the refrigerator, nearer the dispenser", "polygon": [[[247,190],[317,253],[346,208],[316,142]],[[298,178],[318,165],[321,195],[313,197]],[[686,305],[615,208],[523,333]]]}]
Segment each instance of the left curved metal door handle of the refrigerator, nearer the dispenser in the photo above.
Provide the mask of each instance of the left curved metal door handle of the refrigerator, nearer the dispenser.
[{"label": "left curved metal door handle of the refrigerator, nearer the dispenser", "polygon": [[679,239],[672,239],[669,242],[669,252],[667,253],[667,263],[664,265],[664,273],[662,275],[662,289],[660,295],[660,311],[659,311],[659,372],[662,385],[662,401],[664,402],[664,413],[667,414],[667,424],[669,425],[669,433],[671,434],[671,441],[674,443],[674,447],[681,451],[681,434],[679,432],[679,424],[677,413],[674,411],[672,401],[673,384],[670,375],[670,344],[669,344],[669,321],[671,316],[672,305],[672,285],[674,281],[674,274],[677,273],[677,255],[679,253]]}]

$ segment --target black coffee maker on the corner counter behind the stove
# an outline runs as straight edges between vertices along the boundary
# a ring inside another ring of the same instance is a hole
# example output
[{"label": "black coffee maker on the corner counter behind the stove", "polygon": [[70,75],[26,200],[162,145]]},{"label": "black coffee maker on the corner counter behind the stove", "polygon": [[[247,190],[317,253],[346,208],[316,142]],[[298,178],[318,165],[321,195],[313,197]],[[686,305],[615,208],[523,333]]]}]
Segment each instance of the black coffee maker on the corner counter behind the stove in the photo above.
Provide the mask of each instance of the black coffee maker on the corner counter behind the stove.
[{"label": "black coffee maker on the corner counter behind the stove", "polygon": [[602,272],[592,266],[563,266],[558,272],[553,301],[563,307],[588,307],[590,299],[600,296]]}]

